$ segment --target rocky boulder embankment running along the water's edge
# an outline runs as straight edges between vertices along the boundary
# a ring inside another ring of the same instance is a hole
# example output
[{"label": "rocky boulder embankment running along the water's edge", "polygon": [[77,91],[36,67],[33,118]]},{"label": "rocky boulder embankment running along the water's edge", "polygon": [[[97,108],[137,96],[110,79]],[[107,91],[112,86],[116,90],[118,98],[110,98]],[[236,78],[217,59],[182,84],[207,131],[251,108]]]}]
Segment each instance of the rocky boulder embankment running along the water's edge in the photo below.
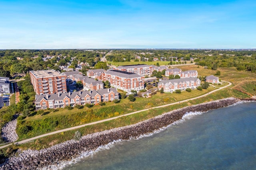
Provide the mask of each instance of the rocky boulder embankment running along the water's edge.
[{"label": "rocky boulder embankment running along the water's edge", "polygon": [[212,109],[227,107],[238,103],[239,101],[241,100],[227,98],[184,107],[134,125],[88,134],[86,136],[82,136],[78,141],[68,140],[61,144],[39,151],[24,150],[20,152],[18,156],[8,158],[4,164],[0,165],[0,169],[50,169],[53,164],[59,164],[64,160],[71,160],[80,156],[82,152],[96,150],[99,146],[106,145],[114,140],[128,140],[131,137],[138,137],[142,134],[152,133],[155,130],[159,130],[162,127],[166,127],[175,121],[182,119],[182,116],[185,113],[197,111],[206,112]]}]

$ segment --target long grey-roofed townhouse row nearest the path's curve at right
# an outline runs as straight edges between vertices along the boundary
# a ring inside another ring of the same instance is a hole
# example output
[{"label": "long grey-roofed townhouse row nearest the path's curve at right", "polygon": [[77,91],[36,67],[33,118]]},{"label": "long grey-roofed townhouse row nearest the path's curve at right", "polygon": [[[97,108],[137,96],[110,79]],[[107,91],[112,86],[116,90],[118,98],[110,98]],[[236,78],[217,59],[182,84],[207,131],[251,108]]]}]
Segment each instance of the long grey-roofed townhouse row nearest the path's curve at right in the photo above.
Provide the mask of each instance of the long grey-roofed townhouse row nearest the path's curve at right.
[{"label": "long grey-roofed townhouse row nearest the path's curve at right", "polygon": [[164,89],[164,92],[174,92],[175,90],[186,90],[188,88],[195,89],[200,86],[201,81],[196,77],[189,77],[183,79],[162,80],[158,83],[158,88]]}]

